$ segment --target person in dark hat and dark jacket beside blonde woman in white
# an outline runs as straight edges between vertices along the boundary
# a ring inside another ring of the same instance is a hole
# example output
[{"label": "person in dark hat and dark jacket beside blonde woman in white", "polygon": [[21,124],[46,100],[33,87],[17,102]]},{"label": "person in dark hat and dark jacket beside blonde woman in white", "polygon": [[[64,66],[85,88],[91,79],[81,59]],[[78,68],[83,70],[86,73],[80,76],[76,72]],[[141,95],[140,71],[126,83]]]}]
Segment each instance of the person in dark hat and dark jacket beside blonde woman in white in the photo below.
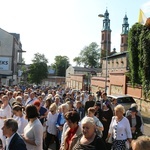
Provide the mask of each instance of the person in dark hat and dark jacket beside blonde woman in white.
[{"label": "person in dark hat and dark jacket beside blonde woman in white", "polygon": [[141,118],[140,116],[137,115],[137,109],[136,107],[131,107],[129,109],[131,111],[131,114],[129,116],[127,116],[129,123],[130,123],[130,127],[131,127],[131,132],[132,132],[132,139],[137,139],[139,136],[142,135],[141,132]]}]

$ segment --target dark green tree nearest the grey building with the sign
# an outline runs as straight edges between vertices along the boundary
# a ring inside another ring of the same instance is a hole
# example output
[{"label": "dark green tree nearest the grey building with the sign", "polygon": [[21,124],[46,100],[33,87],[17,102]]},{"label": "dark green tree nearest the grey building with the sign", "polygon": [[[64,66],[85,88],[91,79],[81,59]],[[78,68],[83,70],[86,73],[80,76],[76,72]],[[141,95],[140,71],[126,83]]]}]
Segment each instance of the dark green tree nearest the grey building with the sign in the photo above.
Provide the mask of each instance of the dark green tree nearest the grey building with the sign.
[{"label": "dark green tree nearest the grey building with the sign", "polygon": [[35,57],[32,60],[33,64],[30,65],[28,71],[28,81],[38,85],[42,82],[43,79],[47,78],[48,60],[43,54],[36,53],[34,56]]}]

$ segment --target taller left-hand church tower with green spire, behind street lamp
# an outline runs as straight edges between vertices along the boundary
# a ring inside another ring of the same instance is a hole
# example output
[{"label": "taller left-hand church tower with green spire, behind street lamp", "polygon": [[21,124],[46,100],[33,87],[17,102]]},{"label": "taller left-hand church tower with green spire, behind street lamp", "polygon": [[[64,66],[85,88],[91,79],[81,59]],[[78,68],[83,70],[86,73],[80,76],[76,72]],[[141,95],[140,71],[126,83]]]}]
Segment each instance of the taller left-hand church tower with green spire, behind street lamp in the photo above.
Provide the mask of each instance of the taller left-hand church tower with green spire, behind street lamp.
[{"label": "taller left-hand church tower with green spire, behind street lamp", "polygon": [[[104,53],[107,51],[108,56],[111,51],[111,29],[110,29],[110,19],[109,13],[106,9],[103,20],[103,29],[101,31],[101,54],[106,56]],[[103,57],[103,56],[102,56]]]}]

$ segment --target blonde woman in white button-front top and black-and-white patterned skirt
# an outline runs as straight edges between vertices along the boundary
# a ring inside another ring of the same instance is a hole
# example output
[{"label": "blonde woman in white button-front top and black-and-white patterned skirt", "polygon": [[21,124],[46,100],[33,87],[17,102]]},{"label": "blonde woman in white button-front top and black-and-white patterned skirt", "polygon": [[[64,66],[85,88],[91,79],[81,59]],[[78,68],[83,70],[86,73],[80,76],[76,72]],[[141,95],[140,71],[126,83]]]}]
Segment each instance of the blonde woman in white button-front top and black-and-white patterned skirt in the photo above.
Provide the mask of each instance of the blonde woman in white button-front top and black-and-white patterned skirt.
[{"label": "blonde woman in white button-front top and black-and-white patterned skirt", "polygon": [[126,142],[132,140],[129,121],[124,117],[125,109],[122,105],[115,107],[115,116],[112,117],[106,141],[112,136],[112,150],[125,150]]}]

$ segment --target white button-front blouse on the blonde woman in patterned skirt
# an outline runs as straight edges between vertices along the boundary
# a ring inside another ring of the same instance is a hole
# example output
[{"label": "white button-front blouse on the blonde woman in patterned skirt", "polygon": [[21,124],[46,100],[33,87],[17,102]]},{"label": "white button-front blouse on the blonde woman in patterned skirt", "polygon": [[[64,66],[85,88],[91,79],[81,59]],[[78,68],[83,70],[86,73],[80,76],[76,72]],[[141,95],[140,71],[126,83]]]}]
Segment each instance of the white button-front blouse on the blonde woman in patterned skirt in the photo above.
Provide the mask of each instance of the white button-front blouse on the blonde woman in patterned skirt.
[{"label": "white button-front blouse on the blonde woman in patterned skirt", "polygon": [[112,137],[115,140],[132,138],[129,120],[126,117],[123,117],[121,121],[117,122],[115,116],[113,116],[109,126],[109,133],[112,134]]}]

